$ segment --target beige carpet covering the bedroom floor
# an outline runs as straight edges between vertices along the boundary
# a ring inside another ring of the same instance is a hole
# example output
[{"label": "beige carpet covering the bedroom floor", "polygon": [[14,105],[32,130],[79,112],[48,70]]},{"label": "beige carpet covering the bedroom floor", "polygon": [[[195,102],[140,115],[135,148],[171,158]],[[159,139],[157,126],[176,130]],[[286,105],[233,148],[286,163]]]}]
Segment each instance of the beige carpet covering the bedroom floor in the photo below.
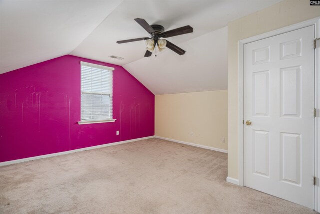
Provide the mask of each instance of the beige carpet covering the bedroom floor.
[{"label": "beige carpet covering the bedroom floor", "polygon": [[0,213],[315,213],[227,183],[227,154],[156,138],[0,167]]}]

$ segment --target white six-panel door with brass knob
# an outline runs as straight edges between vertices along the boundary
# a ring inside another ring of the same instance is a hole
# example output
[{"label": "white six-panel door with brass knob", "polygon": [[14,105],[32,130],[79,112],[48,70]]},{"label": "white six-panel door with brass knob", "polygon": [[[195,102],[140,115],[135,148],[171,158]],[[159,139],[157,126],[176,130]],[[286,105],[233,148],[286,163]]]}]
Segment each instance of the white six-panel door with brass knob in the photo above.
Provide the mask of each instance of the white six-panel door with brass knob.
[{"label": "white six-panel door with brass knob", "polygon": [[244,185],[310,208],[313,39],[309,26],[244,45]]}]

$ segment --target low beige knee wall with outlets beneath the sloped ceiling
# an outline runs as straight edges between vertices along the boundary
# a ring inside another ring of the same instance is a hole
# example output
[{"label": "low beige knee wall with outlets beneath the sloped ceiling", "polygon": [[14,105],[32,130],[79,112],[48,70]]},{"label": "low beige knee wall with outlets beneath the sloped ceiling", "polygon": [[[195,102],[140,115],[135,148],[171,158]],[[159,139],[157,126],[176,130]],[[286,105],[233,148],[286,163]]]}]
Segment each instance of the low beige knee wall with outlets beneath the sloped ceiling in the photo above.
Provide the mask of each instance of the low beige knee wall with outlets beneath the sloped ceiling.
[{"label": "low beige knee wall with outlets beneath the sloped ceiling", "polygon": [[226,150],[227,90],[156,95],[155,135]]}]

